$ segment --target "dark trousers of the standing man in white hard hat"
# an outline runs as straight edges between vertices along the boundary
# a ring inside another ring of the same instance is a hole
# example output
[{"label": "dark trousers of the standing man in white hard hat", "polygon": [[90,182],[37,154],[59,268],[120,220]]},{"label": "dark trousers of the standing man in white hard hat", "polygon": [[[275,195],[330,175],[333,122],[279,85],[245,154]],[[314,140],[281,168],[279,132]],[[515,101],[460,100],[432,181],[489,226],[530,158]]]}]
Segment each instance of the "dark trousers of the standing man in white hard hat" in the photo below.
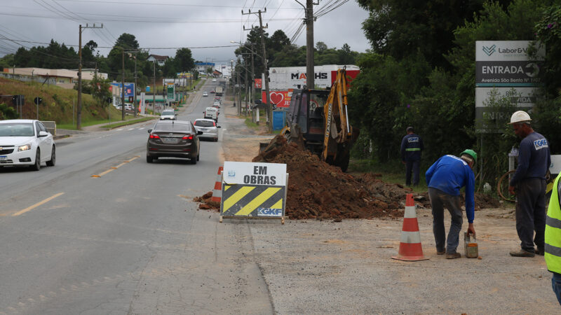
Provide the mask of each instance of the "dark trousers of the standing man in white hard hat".
[{"label": "dark trousers of the standing man in white hard hat", "polygon": [[516,231],[520,247],[525,251],[534,253],[534,244],[543,248],[546,232],[545,179],[522,179],[516,186]]}]

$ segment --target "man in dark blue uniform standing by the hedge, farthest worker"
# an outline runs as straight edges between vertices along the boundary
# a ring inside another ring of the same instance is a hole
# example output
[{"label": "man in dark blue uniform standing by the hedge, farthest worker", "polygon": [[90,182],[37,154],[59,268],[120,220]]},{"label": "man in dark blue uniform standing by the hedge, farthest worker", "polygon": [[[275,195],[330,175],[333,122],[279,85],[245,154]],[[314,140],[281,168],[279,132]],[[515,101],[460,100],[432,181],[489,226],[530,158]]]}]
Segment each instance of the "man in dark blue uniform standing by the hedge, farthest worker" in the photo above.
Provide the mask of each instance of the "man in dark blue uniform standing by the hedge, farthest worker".
[{"label": "man in dark blue uniform standing by the hedge, farthest worker", "polygon": [[419,185],[419,161],[423,149],[423,139],[415,134],[413,127],[407,127],[407,134],[401,139],[401,161],[405,164],[407,186],[411,186],[411,172],[413,172],[413,186]]}]

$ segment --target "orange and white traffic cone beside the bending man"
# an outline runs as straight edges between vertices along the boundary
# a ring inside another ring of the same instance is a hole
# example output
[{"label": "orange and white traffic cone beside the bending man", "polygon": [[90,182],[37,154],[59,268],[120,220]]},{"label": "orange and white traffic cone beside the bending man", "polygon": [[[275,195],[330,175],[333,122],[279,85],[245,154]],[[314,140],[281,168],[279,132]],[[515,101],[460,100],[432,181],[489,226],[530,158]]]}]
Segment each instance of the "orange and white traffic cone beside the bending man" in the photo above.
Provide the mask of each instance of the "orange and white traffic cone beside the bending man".
[{"label": "orange and white traffic cone beside the bending man", "polygon": [[427,260],[423,255],[421,246],[421,233],[419,232],[419,222],[415,212],[413,194],[407,194],[405,199],[405,216],[403,218],[403,228],[401,229],[401,239],[397,256],[391,258],[406,261]]}]

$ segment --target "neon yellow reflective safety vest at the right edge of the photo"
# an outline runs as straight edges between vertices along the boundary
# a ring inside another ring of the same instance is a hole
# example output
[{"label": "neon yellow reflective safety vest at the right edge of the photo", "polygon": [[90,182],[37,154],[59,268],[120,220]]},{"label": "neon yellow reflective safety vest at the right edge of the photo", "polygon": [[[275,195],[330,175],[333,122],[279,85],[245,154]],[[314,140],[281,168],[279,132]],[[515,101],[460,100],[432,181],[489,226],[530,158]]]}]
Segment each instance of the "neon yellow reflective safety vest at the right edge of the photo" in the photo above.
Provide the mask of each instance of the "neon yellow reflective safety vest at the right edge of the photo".
[{"label": "neon yellow reflective safety vest at the right edge of the photo", "polygon": [[561,174],[557,175],[551,199],[549,200],[548,215],[546,217],[546,246],[545,258],[548,270],[561,274],[561,207],[559,205],[559,193],[557,184]]}]

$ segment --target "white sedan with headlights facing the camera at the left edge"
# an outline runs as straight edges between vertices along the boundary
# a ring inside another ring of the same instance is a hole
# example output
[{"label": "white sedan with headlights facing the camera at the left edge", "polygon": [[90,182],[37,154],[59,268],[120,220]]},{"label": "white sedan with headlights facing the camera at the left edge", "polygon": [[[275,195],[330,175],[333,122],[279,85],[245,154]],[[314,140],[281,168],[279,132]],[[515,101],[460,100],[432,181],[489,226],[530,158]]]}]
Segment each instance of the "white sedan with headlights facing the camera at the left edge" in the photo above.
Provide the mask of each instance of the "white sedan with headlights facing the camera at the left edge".
[{"label": "white sedan with headlights facing the camera at the left edge", "polygon": [[29,165],[35,171],[41,163],[55,166],[55,141],[39,120],[0,120],[0,167]]}]

